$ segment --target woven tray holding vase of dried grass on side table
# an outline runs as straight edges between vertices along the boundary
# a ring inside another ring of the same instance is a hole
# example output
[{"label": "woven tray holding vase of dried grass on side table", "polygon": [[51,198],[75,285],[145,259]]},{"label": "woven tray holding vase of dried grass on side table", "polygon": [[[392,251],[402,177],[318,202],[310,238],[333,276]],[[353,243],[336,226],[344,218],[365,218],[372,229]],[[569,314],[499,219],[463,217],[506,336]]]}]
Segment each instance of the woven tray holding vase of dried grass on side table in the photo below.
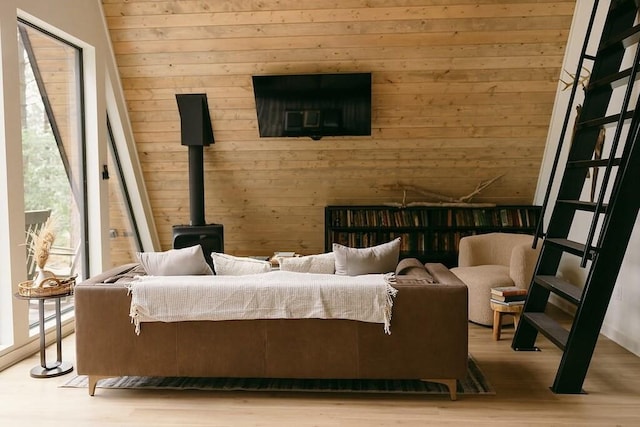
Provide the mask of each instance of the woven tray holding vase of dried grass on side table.
[{"label": "woven tray holding vase of dried grass on side table", "polygon": [[36,277],[18,285],[18,293],[24,297],[45,297],[73,292],[76,276],[58,278],[46,270],[56,234],[52,218],[48,218],[42,229],[30,236],[29,252],[36,262]]}]

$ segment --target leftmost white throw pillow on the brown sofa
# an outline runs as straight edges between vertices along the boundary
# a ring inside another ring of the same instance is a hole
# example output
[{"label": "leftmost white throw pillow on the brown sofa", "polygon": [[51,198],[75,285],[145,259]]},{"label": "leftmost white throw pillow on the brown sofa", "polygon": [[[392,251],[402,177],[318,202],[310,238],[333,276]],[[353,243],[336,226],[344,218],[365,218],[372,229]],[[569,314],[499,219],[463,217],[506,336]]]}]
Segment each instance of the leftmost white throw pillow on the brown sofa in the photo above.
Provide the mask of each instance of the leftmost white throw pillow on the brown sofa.
[{"label": "leftmost white throw pillow on the brown sofa", "polygon": [[150,276],[213,274],[200,245],[165,252],[138,252],[138,260]]}]

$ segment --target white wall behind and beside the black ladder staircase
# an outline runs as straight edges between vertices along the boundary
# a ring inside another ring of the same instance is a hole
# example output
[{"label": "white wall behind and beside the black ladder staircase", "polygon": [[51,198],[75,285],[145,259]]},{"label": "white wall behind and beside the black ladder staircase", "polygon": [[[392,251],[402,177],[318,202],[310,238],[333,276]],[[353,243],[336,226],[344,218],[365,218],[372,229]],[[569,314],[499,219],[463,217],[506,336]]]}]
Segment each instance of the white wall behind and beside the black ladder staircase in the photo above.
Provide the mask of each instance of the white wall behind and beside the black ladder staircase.
[{"label": "white wall behind and beside the black ladder staircase", "polygon": [[[596,23],[594,25],[594,34],[599,35],[600,29],[604,23],[604,18],[607,11],[607,3],[601,2],[598,9],[598,15]],[[569,72],[573,73],[576,70],[576,64],[582,48],[583,38],[589,15],[593,2],[591,0],[578,0],[576,4],[576,14],[574,15],[574,22],[570,34],[570,40],[565,55],[563,67]],[[593,54],[595,52],[595,46],[599,36],[596,37],[595,42],[590,43],[587,53]],[[561,78],[564,80],[570,80],[565,72],[562,73]],[[538,188],[536,191],[535,203],[541,204],[544,199],[544,192],[549,182],[551,174],[551,168],[553,165],[553,158],[556,153],[559,135],[562,129],[562,122],[564,120],[567,104],[569,102],[570,91],[563,91],[563,84],[558,85],[558,93],[556,96],[556,103],[552,116],[551,126],[549,129],[549,135],[547,139],[547,146],[545,150],[545,156],[543,159],[540,178],[538,182]],[[580,100],[582,91],[578,91],[577,99]],[[571,129],[574,122],[574,117],[571,117],[569,121],[569,129]],[[612,132],[611,132],[612,133]],[[567,149],[569,144],[565,144],[562,154],[560,156],[560,165],[566,162]],[[557,172],[554,179],[554,185],[552,187],[552,197],[550,199],[550,207],[553,206],[555,201],[553,195],[557,192],[557,186],[562,179],[562,170]],[[587,194],[590,181],[587,180],[584,194]],[[586,200],[586,198],[584,198]],[[549,208],[546,218],[551,213]],[[570,236],[575,233],[576,235],[585,236],[590,222],[590,215],[577,215],[574,227],[572,227]],[[576,239],[580,240],[580,239]],[[581,239],[584,241],[584,237]],[[589,265],[587,265],[587,268]],[[580,268],[575,257],[567,257],[563,259],[559,268],[560,274],[570,282],[574,284],[582,284],[585,281],[588,269]],[[624,262],[621,266],[618,280],[616,282],[613,297],[611,299],[607,315],[602,327],[602,334],[611,338],[618,344],[632,351],[640,356],[640,218],[636,219],[636,225],[634,232],[629,241],[627,252]],[[560,307],[571,311],[571,306],[559,298],[553,298],[551,302],[559,305]]]}]

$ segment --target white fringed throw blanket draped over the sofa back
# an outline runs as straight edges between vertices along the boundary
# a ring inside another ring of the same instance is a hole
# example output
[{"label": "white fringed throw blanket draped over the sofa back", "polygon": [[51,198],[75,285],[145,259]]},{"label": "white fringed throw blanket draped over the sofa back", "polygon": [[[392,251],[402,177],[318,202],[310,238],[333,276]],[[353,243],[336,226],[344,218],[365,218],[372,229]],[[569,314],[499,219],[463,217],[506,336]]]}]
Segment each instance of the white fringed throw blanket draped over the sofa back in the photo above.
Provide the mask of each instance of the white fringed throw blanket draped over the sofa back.
[{"label": "white fringed throw blanket draped over the sofa back", "polygon": [[390,334],[393,274],[272,271],[245,276],[141,276],[129,285],[131,321],[350,319]]}]

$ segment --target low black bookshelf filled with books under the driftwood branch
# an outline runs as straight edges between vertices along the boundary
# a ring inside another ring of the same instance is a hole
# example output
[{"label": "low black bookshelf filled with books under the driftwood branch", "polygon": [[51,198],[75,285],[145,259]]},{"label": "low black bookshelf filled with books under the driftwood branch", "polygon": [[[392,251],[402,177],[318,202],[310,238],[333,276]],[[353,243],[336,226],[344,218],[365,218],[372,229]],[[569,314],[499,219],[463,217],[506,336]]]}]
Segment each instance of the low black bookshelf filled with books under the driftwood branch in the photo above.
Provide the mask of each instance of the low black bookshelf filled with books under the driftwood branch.
[{"label": "low black bookshelf filled with books under the driftwood branch", "polygon": [[496,231],[533,234],[539,218],[540,207],[533,205],[326,206],[325,251],[333,243],[364,248],[401,237],[401,258],[454,267],[462,237]]}]

